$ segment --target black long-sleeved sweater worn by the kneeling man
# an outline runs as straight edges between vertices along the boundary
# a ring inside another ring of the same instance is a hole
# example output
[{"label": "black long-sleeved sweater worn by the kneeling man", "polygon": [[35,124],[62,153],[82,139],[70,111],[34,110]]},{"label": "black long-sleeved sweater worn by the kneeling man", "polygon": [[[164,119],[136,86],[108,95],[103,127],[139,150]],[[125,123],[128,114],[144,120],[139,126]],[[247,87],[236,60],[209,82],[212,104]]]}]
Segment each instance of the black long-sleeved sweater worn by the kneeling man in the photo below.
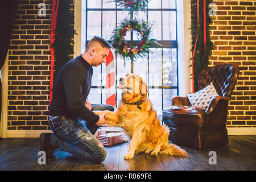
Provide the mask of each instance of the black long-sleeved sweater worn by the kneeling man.
[{"label": "black long-sleeved sweater worn by the kneeling man", "polygon": [[92,75],[92,66],[81,55],[66,63],[53,84],[49,115],[72,115],[85,119],[88,124],[98,122],[99,116],[85,106]]}]

